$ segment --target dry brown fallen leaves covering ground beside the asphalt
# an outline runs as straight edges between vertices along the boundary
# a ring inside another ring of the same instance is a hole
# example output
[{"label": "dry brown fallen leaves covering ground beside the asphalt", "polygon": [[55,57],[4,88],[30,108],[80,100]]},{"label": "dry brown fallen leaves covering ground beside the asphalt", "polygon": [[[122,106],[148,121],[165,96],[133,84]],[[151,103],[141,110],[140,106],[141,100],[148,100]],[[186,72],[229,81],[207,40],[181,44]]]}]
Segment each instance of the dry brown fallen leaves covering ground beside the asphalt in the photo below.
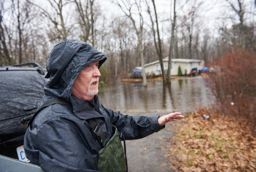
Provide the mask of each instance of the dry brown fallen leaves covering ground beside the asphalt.
[{"label": "dry brown fallen leaves covering ground beside the asphalt", "polygon": [[[210,115],[205,119],[203,114]],[[166,148],[170,168],[183,172],[256,171],[256,139],[246,119],[206,109],[172,123],[176,137]]]}]

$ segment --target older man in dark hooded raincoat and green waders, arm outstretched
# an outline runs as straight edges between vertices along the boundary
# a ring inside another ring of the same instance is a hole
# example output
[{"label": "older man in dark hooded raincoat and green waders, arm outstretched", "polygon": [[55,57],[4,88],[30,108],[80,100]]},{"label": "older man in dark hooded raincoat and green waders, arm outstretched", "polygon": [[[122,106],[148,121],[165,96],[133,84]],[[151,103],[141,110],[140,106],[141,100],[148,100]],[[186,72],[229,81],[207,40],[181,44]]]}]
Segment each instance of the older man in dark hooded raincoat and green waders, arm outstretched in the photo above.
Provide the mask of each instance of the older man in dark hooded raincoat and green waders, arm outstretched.
[{"label": "older man in dark hooded raincoat and green waders, arm outstretched", "polygon": [[48,171],[120,171],[126,160],[120,134],[140,139],[181,113],[128,116],[99,103],[99,67],[106,57],[76,40],[58,43],[47,61],[45,95],[28,123],[24,148],[31,163]]}]

